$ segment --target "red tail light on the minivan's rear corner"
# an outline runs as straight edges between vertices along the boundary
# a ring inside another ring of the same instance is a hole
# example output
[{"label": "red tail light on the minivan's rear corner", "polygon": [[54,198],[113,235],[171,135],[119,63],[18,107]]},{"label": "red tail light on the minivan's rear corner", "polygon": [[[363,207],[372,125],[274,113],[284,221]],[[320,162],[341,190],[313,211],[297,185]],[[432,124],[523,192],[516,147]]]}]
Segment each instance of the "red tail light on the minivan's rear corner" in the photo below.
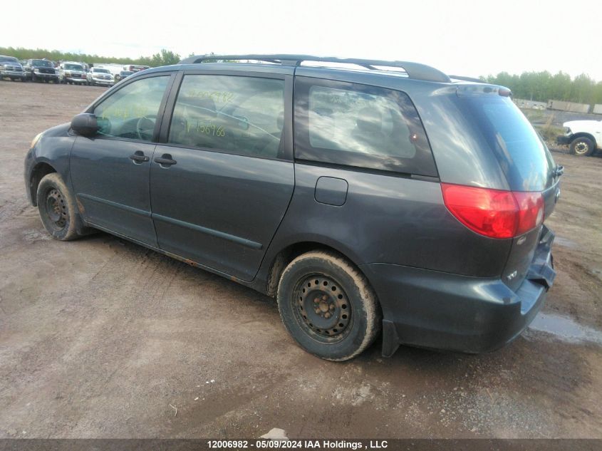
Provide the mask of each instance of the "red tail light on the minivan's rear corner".
[{"label": "red tail light on the minivan's rear corner", "polygon": [[514,238],[544,221],[541,192],[441,184],[445,206],[466,227],[491,238]]}]

